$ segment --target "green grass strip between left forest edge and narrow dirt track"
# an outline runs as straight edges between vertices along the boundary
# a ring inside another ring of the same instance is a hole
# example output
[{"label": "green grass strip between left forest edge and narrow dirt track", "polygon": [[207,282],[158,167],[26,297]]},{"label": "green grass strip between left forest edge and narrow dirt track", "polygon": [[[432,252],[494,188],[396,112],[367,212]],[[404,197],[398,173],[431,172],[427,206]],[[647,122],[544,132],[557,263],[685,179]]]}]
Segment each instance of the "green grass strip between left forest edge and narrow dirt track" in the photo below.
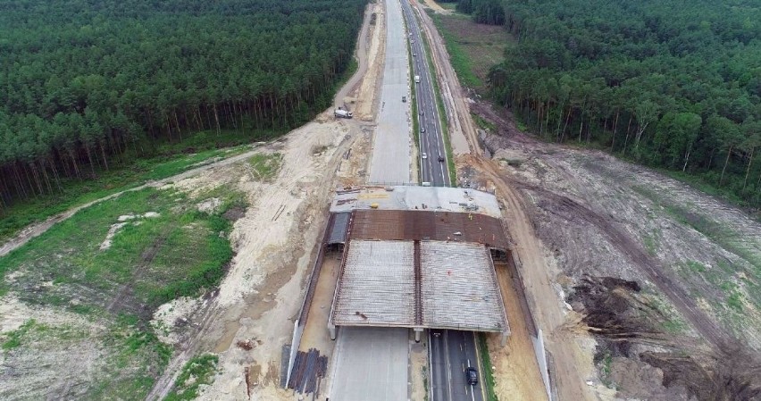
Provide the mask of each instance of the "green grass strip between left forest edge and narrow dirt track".
[{"label": "green grass strip between left forest edge and narrow dirt track", "polygon": [[[214,134],[215,135],[215,134]],[[190,136],[181,144],[167,144],[158,149],[159,156],[140,159],[133,163],[113,166],[111,171],[96,171],[93,180],[62,180],[63,191],[48,196],[38,196],[11,205],[0,214],[0,242],[12,238],[24,227],[38,221],[44,221],[57,213],[86,204],[104,196],[111,195],[124,189],[138,187],[148,180],[161,180],[182,171],[197,167],[199,163],[215,158],[226,158],[238,155],[250,149],[250,146],[237,146],[230,149],[209,148],[198,150],[196,154],[181,154],[181,149],[197,150],[201,145],[197,142],[213,141],[217,138],[221,144],[230,144],[234,138],[230,132],[223,132],[220,137],[211,136],[208,132],[199,132]],[[238,143],[241,142],[238,139]],[[181,146],[181,149],[180,149]],[[213,142],[206,147],[214,146]],[[180,153],[179,155],[171,155]],[[83,171],[89,173],[90,171]]]}]

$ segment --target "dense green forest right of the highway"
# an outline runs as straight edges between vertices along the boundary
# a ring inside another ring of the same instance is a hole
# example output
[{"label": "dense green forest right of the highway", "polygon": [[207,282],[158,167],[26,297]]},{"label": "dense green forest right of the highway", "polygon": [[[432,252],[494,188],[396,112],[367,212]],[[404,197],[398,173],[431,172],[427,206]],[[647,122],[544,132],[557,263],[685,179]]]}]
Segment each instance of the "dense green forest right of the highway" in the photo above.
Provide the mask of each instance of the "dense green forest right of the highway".
[{"label": "dense green forest right of the highway", "polygon": [[[470,0],[460,0],[470,1]],[[514,0],[490,95],[539,135],[683,171],[761,205],[761,7]]]}]

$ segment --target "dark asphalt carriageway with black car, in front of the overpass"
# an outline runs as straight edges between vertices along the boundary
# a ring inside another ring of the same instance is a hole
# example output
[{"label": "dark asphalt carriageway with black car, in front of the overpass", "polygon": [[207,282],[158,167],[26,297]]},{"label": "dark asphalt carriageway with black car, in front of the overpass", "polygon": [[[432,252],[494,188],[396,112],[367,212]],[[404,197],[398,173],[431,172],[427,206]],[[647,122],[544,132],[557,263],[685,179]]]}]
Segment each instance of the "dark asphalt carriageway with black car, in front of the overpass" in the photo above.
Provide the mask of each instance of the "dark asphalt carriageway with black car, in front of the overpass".
[{"label": "dark asphalt carriageway with black car, in front of the overpass", "polygon": [[[437,332],[439,335],[436,335]],[[428,341],[431,354],[431,401],[482,401],[481,369],[474,333],[429,330]],[[479,370],[476,386],[467,384],[465,369],[468,366]]]}]

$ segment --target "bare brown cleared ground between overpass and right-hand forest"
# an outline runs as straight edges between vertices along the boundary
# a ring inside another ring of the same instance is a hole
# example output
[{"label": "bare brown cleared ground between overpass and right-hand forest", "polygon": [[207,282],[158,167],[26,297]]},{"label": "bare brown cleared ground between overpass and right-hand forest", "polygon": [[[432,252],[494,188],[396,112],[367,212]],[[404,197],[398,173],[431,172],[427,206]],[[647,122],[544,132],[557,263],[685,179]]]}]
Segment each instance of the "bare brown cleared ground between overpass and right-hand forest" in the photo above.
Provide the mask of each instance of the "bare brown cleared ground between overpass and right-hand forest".
[{"label": "bare brown cleared ground between overpass and right-hand forest", "polygon": [[[761,224],[711,196],[602,152],[528,138],[509,114],[488,104],[476,104],[475,110],[497,123],[499,132],[483,141],[494,159],[472,158],[471,164],[481,170],[482,186],[504,196],[530,302],[539,326],[548,330],[561,398],[590,398],[595,389],[594,397],[606,397],[617,388],[619,397],[681,399],[669,398],[674,386],[682,386],[683,399],[761,397],[758,376],[747,373],[758,366]],[[641,295],[607,307],[615,316],[623,305],[633,305],[638,323],[590,322],[590,308],[581,301],[573,304],[581,315],[569,311],[566,294],[583,291],[579,285],[590,276],[636,281]],[[625,340],[636,351],[627,346],[622,352],[606,342],[611,325],[614,342]],[[594,348],[590,331],[596,334]],[[736,362],[742,368],[727,365],[738,361],[733,356],[738,352],[748,358]],[[673,362],[684,353],[690,358]],[[622,374],[632,363],[640,370],[632,376],[642,380]],[[715,372],[732,373],[719,378]],[[605,377],[596,378],[598,373]],[[659,377],[663,380],[653,379]],[[674,377],[700,379],[685,384]],[[584,380],[592,386],[581,385]],[[707,382],[720,384],[700,385]]]}]

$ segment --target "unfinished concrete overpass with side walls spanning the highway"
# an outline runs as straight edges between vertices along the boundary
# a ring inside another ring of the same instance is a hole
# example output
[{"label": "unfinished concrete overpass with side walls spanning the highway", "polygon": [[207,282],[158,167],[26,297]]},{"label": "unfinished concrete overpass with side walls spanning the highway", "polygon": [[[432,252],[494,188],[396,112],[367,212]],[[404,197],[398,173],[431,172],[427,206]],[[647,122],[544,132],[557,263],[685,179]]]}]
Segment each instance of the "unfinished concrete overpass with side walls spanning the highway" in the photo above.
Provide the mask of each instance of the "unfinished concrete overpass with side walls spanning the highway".
[{"label": "unfinished concrete overpass with side walls spanning the highway", "polygon": [[[429,342],[434,386],[433,375],[459,378],[464,375],[460,362],[478,363],[476,356],[457,361],[454,372],[437,372],[452,364],[433,362],[440,333],[447,338],[495,333],[504,347],[510,317],[495,266],[501,266],[499,274],[517,272],[507,272],[510,244],[499,213],[495,196],[470,188],[339,188],[295,324],[283,383],[318,393],[317,383],[325,380],[333,384],[327,390],[330,399],[357,399],[368,387],[380,391],[377,399],[392,399],[407,392],[408,343]],[[523,320],[523,313],[514,318]],[[329,343],[319,349],[302,341],[304,333],[314,338],[315,332],[337,340],[338,351],[331,353]],[[347,352],[347,347],[355,349]],[[321,362],[326,354],[333,355],[330,376]]]}]

